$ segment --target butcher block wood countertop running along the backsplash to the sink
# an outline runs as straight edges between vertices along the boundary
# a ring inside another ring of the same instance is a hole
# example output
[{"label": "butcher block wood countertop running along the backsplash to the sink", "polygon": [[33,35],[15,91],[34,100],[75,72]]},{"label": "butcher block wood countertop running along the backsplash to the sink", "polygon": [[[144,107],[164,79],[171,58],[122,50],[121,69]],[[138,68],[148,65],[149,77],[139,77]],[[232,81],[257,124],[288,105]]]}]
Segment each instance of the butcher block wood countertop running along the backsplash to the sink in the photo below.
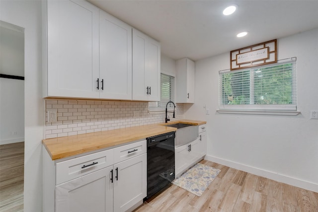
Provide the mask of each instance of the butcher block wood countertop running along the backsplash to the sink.
[{"label": "butcher block wood countertop running along the backsplash to the sink", "polygon": [[138,127],[122,128],[96,133],[87,133],[77,136],[45,139],[42,141],[52,160],[74,156],[98,149],[124,145],[132,141],[146,139],[164,133],[176,131],[176,128],[165,127],[167,124],[203,125],[205,121],[179,120],[169,123],[143,125]]}]

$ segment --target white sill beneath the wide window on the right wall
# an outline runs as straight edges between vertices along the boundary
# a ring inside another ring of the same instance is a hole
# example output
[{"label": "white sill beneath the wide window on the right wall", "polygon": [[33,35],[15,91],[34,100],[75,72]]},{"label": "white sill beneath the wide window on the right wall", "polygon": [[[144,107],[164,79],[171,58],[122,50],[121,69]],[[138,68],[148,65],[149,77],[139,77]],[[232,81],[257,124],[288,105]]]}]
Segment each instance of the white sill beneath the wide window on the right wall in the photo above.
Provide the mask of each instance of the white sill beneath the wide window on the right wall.
[{"label": "white sill beneath the wide window on the right wall", "polygon": [[277,110],[217,110],[218,113],[225,114],[250,114],[250,115],[280,115],[297,116],[300,111],[277,111]]}]

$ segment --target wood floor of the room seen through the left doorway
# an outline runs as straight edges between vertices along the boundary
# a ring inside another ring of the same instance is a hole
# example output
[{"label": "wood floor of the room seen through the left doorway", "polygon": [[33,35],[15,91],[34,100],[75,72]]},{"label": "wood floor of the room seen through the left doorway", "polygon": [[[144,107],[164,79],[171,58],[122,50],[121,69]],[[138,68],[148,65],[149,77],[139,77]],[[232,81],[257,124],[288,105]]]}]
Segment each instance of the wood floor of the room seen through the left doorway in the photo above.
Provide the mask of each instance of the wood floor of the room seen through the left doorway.
[{"label": "wood floor of the room seen through the left doorway", "polygon": [[0,145],[0,212],[23,212],[24,142]]}]

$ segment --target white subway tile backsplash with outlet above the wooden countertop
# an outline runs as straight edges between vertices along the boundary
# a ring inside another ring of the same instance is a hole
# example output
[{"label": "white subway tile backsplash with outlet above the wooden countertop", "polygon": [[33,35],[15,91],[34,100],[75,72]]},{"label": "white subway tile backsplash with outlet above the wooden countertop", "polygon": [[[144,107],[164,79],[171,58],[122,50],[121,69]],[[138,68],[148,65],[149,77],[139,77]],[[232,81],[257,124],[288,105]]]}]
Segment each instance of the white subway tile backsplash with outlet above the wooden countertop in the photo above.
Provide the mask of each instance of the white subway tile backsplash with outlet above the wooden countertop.
[{"label": "white subway tile backsplash with outlet above the wooden countertop", "polygon": [[[165,118],[164,111],[149,113],[148,102],[50,99],[46,109],[58,112],[57,122],[49,123],[46,117],[46,139],[163,123]],[[170,120],[183,119],[183,104],[175,109],[176,118],[169,113]]]}]

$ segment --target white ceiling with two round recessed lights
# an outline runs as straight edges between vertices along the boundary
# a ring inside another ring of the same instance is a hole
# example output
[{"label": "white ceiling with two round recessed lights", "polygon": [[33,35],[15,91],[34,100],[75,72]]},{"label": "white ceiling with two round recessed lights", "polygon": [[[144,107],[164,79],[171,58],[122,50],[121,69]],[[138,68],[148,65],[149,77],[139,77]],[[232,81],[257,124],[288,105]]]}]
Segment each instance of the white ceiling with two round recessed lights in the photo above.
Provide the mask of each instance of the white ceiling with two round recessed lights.
[{"label": "white ceiling with two round recessed lights", "polygon": [[[88,0],[194,61],[318,28],[318,0]],[[239,7],[229,16],[223,9]],[[237,38],[241,31],[248,35]]]}]

